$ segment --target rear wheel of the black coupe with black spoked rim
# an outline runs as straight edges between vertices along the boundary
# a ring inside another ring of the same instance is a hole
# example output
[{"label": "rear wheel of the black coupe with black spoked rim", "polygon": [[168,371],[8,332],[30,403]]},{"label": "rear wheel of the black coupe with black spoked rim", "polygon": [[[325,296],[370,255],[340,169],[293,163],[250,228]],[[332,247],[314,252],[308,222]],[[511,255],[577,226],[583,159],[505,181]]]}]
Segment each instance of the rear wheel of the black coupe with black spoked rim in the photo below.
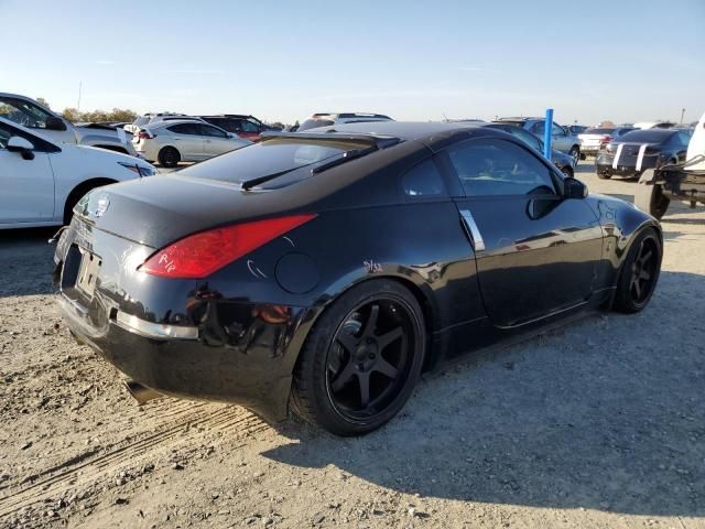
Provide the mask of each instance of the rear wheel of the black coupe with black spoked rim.
[{"label": "rear wheel of the black coupe with black spoked rim", "polygon": [[294,370],[292,410],[336,435],[369,433],[409,400],[425,347],[423,312],[408,289],[384,279],[354,287],[325,310],[306,338]]}]

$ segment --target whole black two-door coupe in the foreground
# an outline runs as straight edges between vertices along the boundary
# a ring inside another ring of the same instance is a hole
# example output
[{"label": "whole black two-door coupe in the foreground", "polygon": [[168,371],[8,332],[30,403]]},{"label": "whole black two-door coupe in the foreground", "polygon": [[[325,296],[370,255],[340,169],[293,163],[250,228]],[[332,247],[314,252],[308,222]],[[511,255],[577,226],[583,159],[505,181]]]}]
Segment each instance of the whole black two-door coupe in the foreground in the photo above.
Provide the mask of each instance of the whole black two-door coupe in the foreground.
[{"label": "whole black two-door coupe in the foreground", "polygon": [[661,266],[654,218],[453,123],[269,133],[84,204],[54,257],[79,339],[153,391],[270,421],[291,406],[340,435],[389,421],[445,358],[642,310]]}]

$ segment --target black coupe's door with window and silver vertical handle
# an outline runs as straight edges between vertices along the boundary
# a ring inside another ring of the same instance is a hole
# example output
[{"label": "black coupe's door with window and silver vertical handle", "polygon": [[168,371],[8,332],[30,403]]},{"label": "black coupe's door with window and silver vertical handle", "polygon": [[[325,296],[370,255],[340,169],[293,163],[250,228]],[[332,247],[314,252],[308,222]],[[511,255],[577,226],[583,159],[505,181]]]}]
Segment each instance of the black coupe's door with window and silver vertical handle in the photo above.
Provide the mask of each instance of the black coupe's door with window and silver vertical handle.
[{"label": "black coupe's door with window and silver vertical handle", "polygon": [[470,139],[446,153],[492,323],[520,325],[585,303],[603,245],[586,202],[563,198],[562,176],[513,141]]}]

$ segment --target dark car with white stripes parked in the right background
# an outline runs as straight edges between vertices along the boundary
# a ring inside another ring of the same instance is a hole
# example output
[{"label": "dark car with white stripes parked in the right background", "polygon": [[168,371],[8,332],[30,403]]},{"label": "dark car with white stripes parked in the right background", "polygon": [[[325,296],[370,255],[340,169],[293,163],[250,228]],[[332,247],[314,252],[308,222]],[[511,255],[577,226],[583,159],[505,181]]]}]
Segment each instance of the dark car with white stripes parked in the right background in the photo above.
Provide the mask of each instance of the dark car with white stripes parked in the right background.
[{"label": "dark car with white stripes parked in the right background", "polygon": [[611,179],[614,174],[638,179],[646,169],[685,161],[691,136],[683,130],[632,130],[612,140],[595,160],[597,176]]}]

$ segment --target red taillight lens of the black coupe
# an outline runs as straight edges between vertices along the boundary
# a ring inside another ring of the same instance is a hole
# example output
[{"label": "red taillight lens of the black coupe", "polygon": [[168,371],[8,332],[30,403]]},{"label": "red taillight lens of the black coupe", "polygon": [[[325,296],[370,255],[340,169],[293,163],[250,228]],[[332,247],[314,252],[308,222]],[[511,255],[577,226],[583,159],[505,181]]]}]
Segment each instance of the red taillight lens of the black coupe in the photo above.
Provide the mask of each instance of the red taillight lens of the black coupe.
[{"label": "red taillight lens of the black coupe", "polygon": [[162,278],[206,278],[314,217],[291,215],[194,234],[159,250],[139,270]]}]

